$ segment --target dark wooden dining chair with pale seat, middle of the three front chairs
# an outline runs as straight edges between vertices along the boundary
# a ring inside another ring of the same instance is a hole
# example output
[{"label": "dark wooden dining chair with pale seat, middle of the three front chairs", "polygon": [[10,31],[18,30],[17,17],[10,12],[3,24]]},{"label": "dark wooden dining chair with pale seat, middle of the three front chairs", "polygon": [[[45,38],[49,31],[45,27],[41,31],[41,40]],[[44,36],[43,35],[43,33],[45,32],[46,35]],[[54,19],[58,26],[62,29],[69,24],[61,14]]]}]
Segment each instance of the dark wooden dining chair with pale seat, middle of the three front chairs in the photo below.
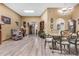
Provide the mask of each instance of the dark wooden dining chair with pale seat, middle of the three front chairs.
[{"label": "dark wooden dining chair with pale seat, middle of the three front chairs", "polygon": [[69,31],[67,30],[64,30],[64,31],[61,31],[60,32],[61,34],[61,38],[59,41],[57,41],[58,44],[60,44],[60,51],[62,53],[62,50],[63,50],[63,46],[64,46],[64,49],[65,49],[65,46],[68,47],[68,50],[69,50],[69,54],[70,54],[70,43],[69,43]]}]

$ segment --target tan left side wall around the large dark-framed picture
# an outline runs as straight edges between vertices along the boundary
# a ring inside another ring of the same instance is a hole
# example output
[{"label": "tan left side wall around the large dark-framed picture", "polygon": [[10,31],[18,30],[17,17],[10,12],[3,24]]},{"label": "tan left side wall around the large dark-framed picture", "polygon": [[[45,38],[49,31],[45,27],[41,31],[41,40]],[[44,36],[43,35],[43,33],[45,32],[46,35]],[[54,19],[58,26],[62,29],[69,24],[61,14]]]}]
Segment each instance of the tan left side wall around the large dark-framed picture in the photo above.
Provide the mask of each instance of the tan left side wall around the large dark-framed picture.
[{"label": "tan left side wall around the large dark-framed picture", "polygon": [[2,25],[2,41],[8,39],[11,36],[11,29],[16,28],[16,21],[20,22],[21,17],[5,5],[0,3],[0,16],[6,16],[11,18],[11,24]]}]

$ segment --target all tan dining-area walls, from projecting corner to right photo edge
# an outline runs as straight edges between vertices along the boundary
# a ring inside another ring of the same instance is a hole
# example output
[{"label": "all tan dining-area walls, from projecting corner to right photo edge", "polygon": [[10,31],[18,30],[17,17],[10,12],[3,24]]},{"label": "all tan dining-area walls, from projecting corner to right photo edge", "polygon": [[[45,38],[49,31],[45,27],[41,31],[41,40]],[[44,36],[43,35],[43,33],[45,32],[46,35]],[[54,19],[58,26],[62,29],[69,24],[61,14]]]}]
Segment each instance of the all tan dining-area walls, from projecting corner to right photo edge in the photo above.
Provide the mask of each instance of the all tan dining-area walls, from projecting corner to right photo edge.
[{"label": "all tan dining-area walls, from projecting corner to right photo edge", "polygon": [[[65,30],[68,29],[68,20],[76,20],[76,31],[79,31],[79,24],[78,24],[78,19],[79,19],[79,4],[77,4],[71,14],[67,16],[62,16],[58,13],[58,8],[48,8],[45,10],[45,12],[41,15],[41,19],[45,21],[45,32],[48,34],[53,34],[56,30],[53,29],[53,32],[51,32],[50,28],[50,19],[53,18],[54,20],[54,25],[56,23],[56,20],[58,18],[63,18],[65,20]],[[56,27],[56,26],[54,26]]]}]

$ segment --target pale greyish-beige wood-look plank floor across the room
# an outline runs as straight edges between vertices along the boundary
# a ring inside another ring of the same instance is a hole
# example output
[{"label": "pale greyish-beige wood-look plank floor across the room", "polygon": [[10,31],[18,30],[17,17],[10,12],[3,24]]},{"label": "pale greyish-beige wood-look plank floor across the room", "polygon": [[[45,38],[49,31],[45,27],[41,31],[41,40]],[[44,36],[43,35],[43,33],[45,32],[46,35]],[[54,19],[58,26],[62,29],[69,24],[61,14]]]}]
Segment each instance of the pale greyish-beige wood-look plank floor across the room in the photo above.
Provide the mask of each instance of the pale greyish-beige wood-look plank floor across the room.
[{"label": "pale greyish-beige wood-look plank floor across the room", "polygon": [[49,44],[44,48],[44,39],[28,35],[22,40],[8,40],[0,45],[0,56],[62,56],[59,50],[50,50]]}]

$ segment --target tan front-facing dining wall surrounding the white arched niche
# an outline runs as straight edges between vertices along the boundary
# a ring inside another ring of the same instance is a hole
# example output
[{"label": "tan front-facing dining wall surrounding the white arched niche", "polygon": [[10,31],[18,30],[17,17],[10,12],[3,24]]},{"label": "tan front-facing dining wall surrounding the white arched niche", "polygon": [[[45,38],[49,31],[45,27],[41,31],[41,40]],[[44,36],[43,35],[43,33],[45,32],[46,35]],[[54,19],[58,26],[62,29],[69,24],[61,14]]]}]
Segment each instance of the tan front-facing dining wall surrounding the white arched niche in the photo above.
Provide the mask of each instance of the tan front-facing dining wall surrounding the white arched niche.
[{"label": "tan front-facing dining wall surrounding the white arched niche", "polygon": [[48,20],[49,20],[49,34],[53,34],[53,32],[56,32],[56,29],[53,29],[53,32],[51,31],[50,28],[50,20],[51,18],[53,18],[53,22],[54,22],[54,27],[56,24],[57,19],[62,18],[65,21],[65,30],[68,29],[68,20],[71,19],[71,14],[67,15],[67,16],[62,16],[59,12],[58,12],[58,8],[48,8]]}]

